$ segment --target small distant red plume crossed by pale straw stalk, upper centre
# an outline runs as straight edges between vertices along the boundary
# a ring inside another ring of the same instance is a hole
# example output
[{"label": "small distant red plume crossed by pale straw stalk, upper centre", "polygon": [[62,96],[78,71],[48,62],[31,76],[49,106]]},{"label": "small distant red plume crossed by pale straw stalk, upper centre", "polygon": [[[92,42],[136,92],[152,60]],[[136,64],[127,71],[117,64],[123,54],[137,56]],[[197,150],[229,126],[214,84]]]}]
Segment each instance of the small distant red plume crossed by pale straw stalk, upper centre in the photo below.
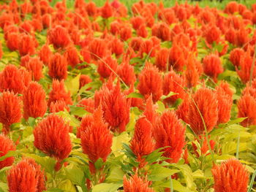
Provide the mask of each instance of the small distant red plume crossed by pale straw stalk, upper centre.
[{"label": "small distant red plume crossed by pale straw stalk, upper centre", "polygon": [[110,77],[110,74],[116,72],[117,66],[118,63],[116,59],[112,58],[111,55],[108,55],[99,61],[97,72],[101,77],[108,78]]}]

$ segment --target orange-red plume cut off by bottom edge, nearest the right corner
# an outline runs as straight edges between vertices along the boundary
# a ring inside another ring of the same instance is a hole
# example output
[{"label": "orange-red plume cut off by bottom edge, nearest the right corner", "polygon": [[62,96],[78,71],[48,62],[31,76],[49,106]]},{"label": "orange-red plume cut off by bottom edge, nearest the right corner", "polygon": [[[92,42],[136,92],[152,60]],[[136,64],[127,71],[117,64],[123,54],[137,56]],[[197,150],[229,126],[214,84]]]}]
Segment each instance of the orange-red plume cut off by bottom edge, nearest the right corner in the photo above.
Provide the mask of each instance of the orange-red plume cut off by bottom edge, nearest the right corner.
[{"label": "orange-red plume cut off by bottom edge, nearest the right corner", "polygon": [[245,166],[235,158],[214,165],[211,169],[214,176],[214,191],[216,192],[246,192],[249,173]]}]

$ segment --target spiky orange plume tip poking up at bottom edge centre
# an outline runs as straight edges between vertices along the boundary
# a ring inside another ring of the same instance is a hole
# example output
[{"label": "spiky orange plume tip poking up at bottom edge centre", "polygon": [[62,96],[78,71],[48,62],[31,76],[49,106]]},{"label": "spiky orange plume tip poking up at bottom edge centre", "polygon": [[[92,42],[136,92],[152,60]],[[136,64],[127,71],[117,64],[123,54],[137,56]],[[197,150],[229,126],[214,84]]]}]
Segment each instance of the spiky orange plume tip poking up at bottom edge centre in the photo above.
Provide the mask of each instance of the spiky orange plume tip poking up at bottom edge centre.
[{"label": "spiky orange plume tip poking up at bottom edge centre", "polygon": [[148,185],[149,182],[146,179],[138,177],[138,174],[133,175],[129,180],[124,176],[124,192],[154,192]]}]

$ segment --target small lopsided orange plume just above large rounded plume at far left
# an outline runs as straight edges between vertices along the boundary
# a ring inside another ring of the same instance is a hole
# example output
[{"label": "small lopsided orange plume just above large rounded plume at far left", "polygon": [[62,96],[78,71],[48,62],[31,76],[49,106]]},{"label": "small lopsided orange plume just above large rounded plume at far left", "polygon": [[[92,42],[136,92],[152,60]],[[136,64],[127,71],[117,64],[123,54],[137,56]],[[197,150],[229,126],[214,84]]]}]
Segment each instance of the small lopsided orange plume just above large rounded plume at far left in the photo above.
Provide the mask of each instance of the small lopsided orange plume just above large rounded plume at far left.
[{"label": "small lopsided orange plume just above large rounded plume at far left", "polygon": [[26,69],[31,72],[32,79],[39,81],[42,77],[42,61],[38,57],[30,58],[29,62],[26,63]]}]

